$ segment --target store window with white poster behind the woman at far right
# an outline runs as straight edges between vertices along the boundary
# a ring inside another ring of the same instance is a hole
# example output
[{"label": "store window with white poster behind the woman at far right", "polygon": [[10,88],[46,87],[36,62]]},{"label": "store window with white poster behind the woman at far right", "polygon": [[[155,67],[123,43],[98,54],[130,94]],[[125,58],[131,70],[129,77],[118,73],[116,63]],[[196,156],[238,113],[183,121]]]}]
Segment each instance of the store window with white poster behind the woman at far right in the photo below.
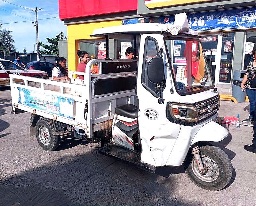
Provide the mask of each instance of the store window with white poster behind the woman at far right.
[{"label": "store window with white poster behind the woman at far right", "polygon": [[244,70],[246,69],[248,63],[253,60],[252,59],[253,49],[256,49],[256,32],[247,32],[245,50],[244,50]]}]

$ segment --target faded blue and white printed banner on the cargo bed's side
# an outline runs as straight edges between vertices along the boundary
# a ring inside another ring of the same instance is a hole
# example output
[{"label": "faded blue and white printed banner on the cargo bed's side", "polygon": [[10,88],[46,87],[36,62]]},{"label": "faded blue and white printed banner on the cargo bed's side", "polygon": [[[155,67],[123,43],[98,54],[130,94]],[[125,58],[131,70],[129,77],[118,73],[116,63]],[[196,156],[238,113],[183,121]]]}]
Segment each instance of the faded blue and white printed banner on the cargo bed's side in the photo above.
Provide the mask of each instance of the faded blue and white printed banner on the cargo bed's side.
[{"label": "faded blue and white printed banner on the cargo bed's side", "polygon": [[18,90],[20,93],[19,104],[73,119],[74,99],[55,95],[46,95],[20,87],[18,87]]}]

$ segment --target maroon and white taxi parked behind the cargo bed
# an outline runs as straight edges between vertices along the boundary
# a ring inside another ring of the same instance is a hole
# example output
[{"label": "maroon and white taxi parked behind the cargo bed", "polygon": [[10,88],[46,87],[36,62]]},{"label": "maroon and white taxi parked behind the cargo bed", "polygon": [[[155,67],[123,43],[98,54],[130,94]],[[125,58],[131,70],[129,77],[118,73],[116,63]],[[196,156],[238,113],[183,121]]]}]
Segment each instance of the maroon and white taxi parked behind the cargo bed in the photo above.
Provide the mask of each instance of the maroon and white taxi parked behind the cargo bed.
[{"label": "maroon and white taxi parked behind the cargo bed", "polygon": [[9,74],[18,74],[18,75],[24,75],[29,77],[49,79],[49,76],[45,71],[27,70],[10,60],[0,59],[0,86],[10,85]]}]

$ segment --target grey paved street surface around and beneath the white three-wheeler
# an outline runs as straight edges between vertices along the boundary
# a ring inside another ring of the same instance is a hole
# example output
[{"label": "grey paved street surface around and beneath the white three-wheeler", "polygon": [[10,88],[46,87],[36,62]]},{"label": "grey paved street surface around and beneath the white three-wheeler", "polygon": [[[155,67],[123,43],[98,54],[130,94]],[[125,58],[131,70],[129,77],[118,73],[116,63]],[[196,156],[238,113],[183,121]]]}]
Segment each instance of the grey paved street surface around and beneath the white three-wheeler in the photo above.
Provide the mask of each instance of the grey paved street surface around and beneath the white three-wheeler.
[{"label": "grey paved street surface around and beneath the white three-wheeler", "polygon": [[[44,151],[29,137],[30,114],[11,114],[9,89],[0,91],[1,205],[255,205],[256,155],[243,149],[251,144],[252,127],[231,125],[229,136],[215,143],[234,170],[226,188],[211,192],[194,185],[180,167],[148,173],[97,156],[78,141]],[[221,101],[219,116],[239,113],[245,119],[248,109],[248,102]]]}]

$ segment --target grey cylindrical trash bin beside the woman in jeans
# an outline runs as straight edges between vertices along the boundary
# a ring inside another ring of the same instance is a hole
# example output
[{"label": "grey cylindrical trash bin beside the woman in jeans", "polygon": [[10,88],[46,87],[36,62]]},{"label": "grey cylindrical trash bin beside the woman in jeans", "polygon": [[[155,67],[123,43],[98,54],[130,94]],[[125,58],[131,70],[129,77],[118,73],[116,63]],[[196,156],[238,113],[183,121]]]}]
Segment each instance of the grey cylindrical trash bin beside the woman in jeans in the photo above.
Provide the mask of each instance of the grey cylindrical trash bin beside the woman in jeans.
[{"label": "grey cylindrical trash bin beside the woman in jeans", "polygon": [[235,70],[232,79],[232,97],[236,98],[237,102],[245,102],[246,91],[241,91],[241,83],[244,78],[246,70]]}]

